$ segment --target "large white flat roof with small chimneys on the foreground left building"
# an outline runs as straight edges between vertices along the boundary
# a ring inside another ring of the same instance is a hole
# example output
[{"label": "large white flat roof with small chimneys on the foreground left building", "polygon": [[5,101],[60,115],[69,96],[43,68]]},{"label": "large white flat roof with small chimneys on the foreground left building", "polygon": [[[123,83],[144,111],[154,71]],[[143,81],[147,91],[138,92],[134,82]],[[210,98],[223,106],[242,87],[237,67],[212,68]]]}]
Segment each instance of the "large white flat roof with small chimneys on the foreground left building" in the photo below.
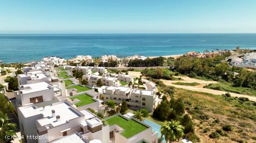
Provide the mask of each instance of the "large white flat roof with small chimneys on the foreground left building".
[{"label": "large white flat roof with small chimneys on the foreground left building", "polygon": [[[52,117],[52,110],[55,111],[54,117]],[[20,111],[25,118],[42,114],[43,118],[37,120],[41,126],[47,124],[57,126],[66,123],[66,121],[68,120],[80,117],[80,115],[76,111],[71,109],[66,102],[59,103],[53,106],[45,106],[45,109],[43,109],[43,107],[35,108],[34,106],[30,106],[27,108],[20,108]],[[56,121],[57,115],[61,117],[60,121]]]}]

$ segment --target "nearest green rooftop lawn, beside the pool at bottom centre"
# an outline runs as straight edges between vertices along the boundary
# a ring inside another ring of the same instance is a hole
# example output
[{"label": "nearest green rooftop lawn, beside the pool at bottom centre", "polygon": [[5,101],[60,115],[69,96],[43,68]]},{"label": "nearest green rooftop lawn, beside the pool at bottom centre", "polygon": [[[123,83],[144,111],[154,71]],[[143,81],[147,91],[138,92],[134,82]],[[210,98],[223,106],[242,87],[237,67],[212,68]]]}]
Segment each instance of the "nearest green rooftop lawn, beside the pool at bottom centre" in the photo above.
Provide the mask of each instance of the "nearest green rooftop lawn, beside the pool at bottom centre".
[{"label": "nearest green rooftop lawn, beside the pool at bottom centre", "polygon": [[121,133],[121,135],[123,135],[126,138],[132,137],[140,133],[141,131],[148,129],[148,127],[136,122],[135,120],[127,120],[125,118],[122,118],[121,116],[108,118],[106,121],[108,122],[109,126],[116,124],[123,128],[124,131]]}]

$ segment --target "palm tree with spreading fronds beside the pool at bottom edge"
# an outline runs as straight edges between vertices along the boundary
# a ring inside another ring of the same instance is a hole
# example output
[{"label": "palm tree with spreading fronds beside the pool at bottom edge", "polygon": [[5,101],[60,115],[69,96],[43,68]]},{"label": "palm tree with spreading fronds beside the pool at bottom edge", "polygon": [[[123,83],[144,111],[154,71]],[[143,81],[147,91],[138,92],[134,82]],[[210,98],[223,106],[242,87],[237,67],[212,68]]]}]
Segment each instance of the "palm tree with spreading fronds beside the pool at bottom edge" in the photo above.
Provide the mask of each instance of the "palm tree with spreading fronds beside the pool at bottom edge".
[{"label": "palm tree with spreading fronds beside the pool at bottom edge", "polygon": [[184,136],[184,127],[179,121],[175,120],[164,121],[160,131],[162,136],[164,135],[165,140],[169,141],[169,143],[179,140],[180,137]]}]

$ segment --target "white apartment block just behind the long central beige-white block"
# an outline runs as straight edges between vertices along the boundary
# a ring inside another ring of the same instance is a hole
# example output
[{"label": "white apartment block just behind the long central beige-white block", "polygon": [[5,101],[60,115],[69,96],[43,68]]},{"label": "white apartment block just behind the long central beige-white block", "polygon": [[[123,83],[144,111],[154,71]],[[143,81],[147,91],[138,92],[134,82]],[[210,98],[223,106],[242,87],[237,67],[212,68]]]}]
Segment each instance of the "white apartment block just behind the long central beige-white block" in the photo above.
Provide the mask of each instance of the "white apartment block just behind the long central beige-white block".
[{"label": "white apartment block just behind the long central beige-white block", "polygon": [[120,86],[120,81],[116,77],[109,77],[105,75],[83,75],[82,79],[88,81],[89,86],[96,85],[98,80],[101,80],[103,86]]}]

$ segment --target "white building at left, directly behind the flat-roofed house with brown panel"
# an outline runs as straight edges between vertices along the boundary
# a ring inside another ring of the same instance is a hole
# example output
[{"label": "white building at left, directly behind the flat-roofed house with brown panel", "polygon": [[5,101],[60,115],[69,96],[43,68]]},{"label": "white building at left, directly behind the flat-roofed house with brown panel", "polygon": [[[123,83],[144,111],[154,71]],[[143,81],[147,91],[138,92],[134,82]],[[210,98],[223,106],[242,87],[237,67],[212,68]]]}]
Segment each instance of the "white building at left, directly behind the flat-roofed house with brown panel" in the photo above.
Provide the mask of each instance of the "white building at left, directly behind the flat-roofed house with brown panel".
[{"label": "white building at left, directly behind the flat-roofed house with brown panel", "polygon": [[17,75],[17,78],[18,78],[19,86],[24,84],[36,83],[36,82],[51,81],[51,76],[46,73],[43,73],[40,70]]}]

